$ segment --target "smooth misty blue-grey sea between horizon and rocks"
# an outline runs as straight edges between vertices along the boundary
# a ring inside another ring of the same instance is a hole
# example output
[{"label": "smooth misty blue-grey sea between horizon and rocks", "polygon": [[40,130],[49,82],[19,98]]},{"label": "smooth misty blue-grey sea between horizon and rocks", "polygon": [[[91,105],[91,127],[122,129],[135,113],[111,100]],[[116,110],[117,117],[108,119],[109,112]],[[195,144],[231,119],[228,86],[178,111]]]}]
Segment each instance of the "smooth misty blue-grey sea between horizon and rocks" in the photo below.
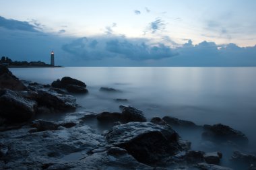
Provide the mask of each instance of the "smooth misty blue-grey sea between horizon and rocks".
[{"label": "smooth misty blue-grey sea between horizon and rocks", "polygon": [[[119,68],[67,67],[11,69],[20,79],[51,83],[64,76],[84,81],[88,95],[77,95],[87,111],[119,111],[120,104],[154,116],[174,116],[196,124],[222,123],[245,132],[255,150],[255,67]],[[104,93],[113,87],[122,93]],[[127,102],[114,101],[116,98]]]}]

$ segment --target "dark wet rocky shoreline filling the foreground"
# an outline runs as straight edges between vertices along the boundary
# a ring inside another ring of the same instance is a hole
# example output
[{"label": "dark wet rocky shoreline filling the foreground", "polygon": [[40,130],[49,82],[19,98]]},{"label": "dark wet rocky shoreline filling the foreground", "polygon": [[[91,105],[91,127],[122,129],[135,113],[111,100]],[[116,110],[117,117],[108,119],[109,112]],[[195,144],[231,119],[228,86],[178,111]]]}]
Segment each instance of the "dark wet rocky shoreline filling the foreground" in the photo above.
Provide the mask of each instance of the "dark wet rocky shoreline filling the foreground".
[{"label": "dark wet rocky shoreline filling the foreground", "polygon": [[[121,92],[108,87],[100,91]],[[243,132],[223,124],[199,126],[170,116],[147,122],[141,110],[129,105],[120,105],[120,112],[75,112],[75,93],[89,93],[86,84],[71,77],[51,85],[20,81],[0,66],[0,169],[229,170],[221,165],[226,155],[193,151],[174,129],[200,129],[202,140],[212,145],[243,148],[249,142]],[[75,118],[36,119],[65,113]],[[109,128],[99,133],[88,120]],[[228,158],[232,168],[256,169],[255,155],[241,151]]]}]

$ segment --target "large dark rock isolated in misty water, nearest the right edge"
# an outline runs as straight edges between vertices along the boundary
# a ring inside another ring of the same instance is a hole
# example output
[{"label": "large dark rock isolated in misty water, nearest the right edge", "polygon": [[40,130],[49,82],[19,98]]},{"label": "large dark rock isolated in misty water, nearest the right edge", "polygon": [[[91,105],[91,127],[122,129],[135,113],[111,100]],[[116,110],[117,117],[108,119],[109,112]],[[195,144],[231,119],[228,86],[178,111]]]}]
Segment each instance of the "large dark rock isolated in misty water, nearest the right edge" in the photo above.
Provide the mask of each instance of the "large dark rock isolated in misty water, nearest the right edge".
[{"label": "large dark rock isolated in misty water, nearest the right edge", "polygon": [[202,137],[205,140],[216,141],[216,142],[226,142],[228,140],[236,144],[248,144],[248,138],[238,130],[234,130],[229,126],[223,124],[214,124],[213,126],[204,125]]}]

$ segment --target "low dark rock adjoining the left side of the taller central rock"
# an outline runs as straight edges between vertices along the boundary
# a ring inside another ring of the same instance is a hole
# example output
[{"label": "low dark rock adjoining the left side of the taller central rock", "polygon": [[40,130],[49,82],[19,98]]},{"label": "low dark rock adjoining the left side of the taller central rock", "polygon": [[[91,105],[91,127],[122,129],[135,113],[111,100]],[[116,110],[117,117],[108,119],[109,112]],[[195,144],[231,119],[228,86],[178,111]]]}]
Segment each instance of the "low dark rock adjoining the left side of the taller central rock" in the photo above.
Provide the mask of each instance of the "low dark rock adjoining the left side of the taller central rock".
[{"label": "low dark rock adjoining the left side of the taller central rock", "polygon": [[102,112],[98,114],[97,120],[100,122],[117,122],[123,121],[123,116],[118,112]]}]

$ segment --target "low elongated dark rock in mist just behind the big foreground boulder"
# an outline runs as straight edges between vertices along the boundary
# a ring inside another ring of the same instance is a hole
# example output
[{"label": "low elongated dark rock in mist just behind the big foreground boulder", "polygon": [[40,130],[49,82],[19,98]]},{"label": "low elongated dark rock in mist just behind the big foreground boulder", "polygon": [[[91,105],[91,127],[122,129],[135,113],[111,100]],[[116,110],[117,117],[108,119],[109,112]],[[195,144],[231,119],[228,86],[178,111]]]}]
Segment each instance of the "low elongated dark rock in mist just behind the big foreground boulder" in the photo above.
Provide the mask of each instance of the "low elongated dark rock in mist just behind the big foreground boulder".
[{"label": "low elongated dark rock in mist just behind the big foreground boulder", "polygon": [[195,128],[197,125],[191,121],[188,120],[179,120],[177,118],[172,118],[170,116],[164,116],[162,118],[167,124],[170,124],[170,126],[181,126],[184,128]]}]

